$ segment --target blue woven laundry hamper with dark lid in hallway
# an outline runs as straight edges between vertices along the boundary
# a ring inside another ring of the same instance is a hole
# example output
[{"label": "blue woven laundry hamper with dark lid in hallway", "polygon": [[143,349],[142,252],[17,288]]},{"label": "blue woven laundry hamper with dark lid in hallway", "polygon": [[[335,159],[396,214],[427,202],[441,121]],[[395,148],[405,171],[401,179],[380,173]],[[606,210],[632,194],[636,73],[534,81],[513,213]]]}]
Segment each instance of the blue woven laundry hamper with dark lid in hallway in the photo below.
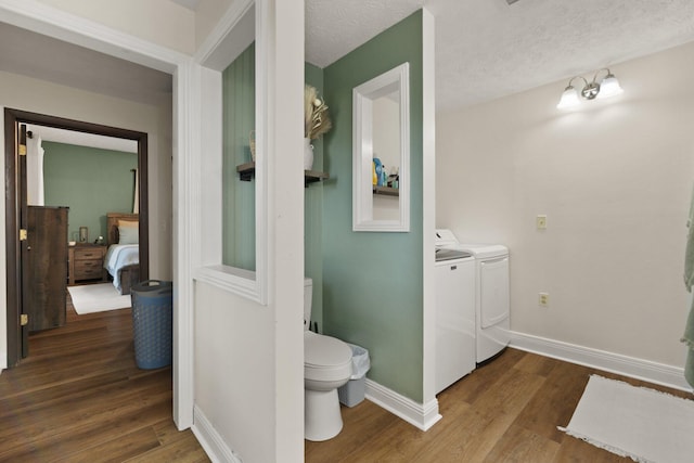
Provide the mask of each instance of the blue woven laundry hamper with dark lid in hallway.
[{"label": "blue woven laundry hamper with dark lid in hallway", "polygon": [[174,283],[147,280],[130,288],[134,360],[139,369],[171,364]]}]

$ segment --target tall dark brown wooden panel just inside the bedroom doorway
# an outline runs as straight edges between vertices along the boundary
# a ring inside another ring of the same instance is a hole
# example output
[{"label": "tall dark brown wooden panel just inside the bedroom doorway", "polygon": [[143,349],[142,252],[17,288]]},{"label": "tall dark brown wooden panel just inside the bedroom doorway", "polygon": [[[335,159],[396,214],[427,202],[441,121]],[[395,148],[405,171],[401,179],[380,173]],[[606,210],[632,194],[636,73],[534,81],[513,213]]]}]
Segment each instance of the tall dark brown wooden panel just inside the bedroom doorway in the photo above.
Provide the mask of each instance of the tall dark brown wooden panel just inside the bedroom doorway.
[{"label": "tall dark brown wooden panel just inside the bedroom doorway", "polygon": [[28,206],[22,287],[30,332],[65,324],[67,210]]}]

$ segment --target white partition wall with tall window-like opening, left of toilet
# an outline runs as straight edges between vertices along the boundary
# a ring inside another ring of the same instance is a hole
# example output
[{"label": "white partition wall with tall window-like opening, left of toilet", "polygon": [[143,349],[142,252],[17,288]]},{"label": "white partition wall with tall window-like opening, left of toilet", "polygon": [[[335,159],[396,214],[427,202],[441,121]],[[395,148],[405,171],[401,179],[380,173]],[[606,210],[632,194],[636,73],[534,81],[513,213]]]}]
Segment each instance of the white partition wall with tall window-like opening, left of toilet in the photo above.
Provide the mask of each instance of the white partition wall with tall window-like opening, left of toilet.
[{"label": "white partition wall with tall window-like opening, left of toilet", "polygon": [[[201,257],[191,256],[193,432],[215,461],[234,461],[235,452],[248,463],[297,462],[304,456],[305,188],[301,157],[295,156],[303,152],[303,123],[294,116],[304,98],[304,8],[301,0],[264,0],[255,9],[255,282],[227,280],[239,272],[221,269],[221,182],[240,180],[219,168],[210,172],[222,158],[221,76],[213,69],[201,75],[205,137],[189,170],[191,185],[200,189],[190,197],[200,220],[190,226],[204,241],[191,243],[201,249]],[[232,37],[237,23],[221,24],[231,31],[224,37]],[[247,286],[259,290],[244,292]]]}]

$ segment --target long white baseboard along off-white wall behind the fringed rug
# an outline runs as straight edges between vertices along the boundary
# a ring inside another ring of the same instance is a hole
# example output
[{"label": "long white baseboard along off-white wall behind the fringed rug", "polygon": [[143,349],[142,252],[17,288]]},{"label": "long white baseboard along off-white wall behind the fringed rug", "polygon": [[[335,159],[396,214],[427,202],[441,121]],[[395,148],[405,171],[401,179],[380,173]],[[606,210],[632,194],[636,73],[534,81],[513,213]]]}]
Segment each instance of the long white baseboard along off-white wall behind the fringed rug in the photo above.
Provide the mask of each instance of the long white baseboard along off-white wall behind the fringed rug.
[{"label": "long white baseboard along off-white wall behind the fringed rug", "polygon": [[511,347],[674,389],[692,390],[692,387],[684,380],[683,368],[517,332],[511,332]]}]

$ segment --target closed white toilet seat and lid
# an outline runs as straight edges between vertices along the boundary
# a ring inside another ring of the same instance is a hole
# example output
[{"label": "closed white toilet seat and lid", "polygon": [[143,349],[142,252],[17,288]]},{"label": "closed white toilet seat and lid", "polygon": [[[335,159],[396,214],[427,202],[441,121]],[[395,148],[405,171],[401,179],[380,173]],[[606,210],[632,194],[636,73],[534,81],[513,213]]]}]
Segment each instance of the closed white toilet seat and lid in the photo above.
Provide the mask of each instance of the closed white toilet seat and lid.
[{"label": "closed white toilet seat and lid", "polygon": [[304,332],[304,377],[339,381],[351,375],[351,348],[331,336]]}]

